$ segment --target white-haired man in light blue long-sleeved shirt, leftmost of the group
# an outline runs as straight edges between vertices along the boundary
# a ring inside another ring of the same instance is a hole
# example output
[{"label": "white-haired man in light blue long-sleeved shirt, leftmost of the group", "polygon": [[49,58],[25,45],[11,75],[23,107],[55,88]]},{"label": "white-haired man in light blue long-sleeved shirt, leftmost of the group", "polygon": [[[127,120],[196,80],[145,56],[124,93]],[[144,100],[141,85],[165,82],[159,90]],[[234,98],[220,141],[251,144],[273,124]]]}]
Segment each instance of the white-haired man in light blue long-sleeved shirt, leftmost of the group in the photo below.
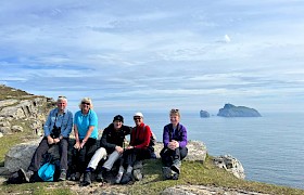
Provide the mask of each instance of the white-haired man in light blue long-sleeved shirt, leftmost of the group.
[{"label": "white-haired man in light blue long-sleeved shirt, leftmost of the group", "polygon": [[27,171],[22,170],[26,182],[35,182],[42,156],[53,145],[60,148],[60,181],[66,180],[68,136],[73,127],[73,114],[66,108],[67,99],[59,96],[43,126],[45,136],[36,148]]}]

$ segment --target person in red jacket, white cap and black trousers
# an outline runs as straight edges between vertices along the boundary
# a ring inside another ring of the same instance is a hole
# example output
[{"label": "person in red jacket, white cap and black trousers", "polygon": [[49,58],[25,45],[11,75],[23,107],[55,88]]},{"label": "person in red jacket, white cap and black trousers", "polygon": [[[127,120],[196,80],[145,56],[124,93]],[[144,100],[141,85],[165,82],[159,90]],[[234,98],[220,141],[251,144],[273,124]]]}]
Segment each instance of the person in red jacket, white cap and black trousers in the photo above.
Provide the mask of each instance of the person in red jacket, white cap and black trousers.
[{"label": "person in red jacket, white cap and black trousers", "polygon": [[[131,131],[129,146],[127,146],[123,153],[123,159],[121,161],[121,167],[118,174],[116,176],[115,183],[127,184],[134,179],[141,180],[142,174],[141,172],[138,172],[140,169],[137,169],[136,172],[132,172],[134,166],[136,161],[151,157],[149,145],[152,131],[149,126],[143,123],[142,113],[136,113],[134,115],[134,121],[136,127]],[[124,164],[127,165],[127,170],[125,173]]]}]

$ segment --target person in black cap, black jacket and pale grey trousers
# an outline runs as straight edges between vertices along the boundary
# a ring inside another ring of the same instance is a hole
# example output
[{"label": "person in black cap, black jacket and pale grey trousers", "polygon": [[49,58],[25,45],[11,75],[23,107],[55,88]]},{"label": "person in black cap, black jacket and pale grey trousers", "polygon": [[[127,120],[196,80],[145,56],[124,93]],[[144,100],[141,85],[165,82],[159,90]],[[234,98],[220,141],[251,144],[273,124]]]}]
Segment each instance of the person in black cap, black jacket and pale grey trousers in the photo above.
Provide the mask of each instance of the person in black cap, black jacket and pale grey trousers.
[{"label": "person in black cap, black jacket and pale grey trousers", "polygon": [[130,134],[131,127],[124,126],[124,117],[116,115],[113,122],[104,129],[102,138],[100,140],[100,148],[96,151],[91,158],[84,178],[83,185],[89,185],[91,183],[91,172],[97,169],[101,159],[106,159],[101,170],[98,172],[96,180],[103,182],[103,173],[110,171],[114,162],[122,157],[124,152],[124,141],[127,134]]}]

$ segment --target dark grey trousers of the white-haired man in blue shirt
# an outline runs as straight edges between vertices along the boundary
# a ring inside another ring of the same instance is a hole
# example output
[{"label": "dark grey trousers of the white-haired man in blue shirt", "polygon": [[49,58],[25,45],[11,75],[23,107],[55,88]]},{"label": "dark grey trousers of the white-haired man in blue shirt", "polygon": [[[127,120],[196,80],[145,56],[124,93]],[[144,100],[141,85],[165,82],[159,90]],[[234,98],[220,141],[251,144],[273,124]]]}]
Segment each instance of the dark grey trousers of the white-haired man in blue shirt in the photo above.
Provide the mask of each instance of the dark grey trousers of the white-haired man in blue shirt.
[{"label": "dark grey trousers of the white-haired man in blue shirt", "polygon": [[[67,170],[67,147],[68,147],[68,138],[62,139],[59,143],[59,153],[60,153],[60,169]],[[48,152],[48,150],[55,144],[49,144],[48,139],[45,136],[39,146],[36,148],[28,170],[34,172],[38,171],[41,166],[42,156]]]}]

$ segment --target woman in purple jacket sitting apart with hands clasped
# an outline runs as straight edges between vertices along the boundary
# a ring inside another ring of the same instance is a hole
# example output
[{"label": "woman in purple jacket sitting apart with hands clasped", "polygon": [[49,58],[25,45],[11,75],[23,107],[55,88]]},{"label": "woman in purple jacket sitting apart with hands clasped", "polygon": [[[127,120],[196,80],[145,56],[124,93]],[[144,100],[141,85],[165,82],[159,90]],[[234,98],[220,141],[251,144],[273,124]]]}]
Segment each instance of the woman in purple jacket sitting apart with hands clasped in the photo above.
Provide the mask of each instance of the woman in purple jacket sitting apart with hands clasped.
[{"label": "woman in purple jacket sitting apart with hands clasped", "polygon": [[180,120],[179,109],[169,112],[170,123],[164,127],[163,143],[164,148],[161,151],[161,158],[164,164],[162,168],[163,176],[166,180],[178,180],[180,174],[181,160],[187,156],[187,129]]}]

